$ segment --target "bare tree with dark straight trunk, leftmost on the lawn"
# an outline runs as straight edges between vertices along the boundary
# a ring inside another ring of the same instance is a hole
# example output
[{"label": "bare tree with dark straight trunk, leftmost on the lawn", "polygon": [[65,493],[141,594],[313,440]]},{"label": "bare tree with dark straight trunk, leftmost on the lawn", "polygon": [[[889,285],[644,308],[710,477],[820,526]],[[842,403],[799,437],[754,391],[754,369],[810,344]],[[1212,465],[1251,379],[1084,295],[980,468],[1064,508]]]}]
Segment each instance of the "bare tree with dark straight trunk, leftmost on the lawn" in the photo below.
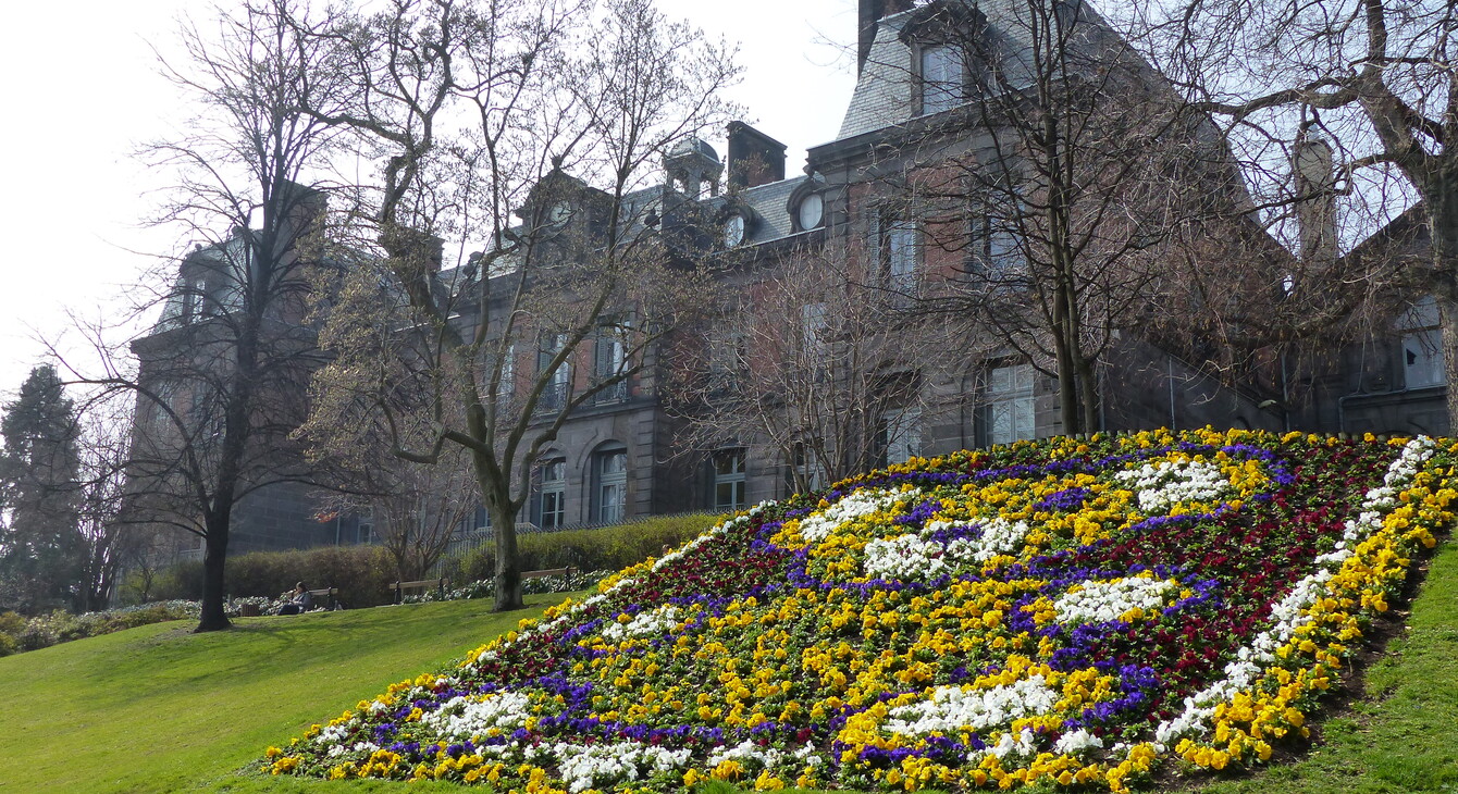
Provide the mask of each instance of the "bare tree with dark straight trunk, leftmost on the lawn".
[{"label": "bare tree with dark straight trunk, leftmost on the lawn", "polygon": [[[195,243],[165,261],[131,339],[139,364],[106,357],[77,374],[101,396],[136,395],[125,522],[171,526],[204,543],[198,631],[227,628],[223,570],[233,508],[248,494],[306,479],[287,436],[303,418],[315,332],[303,323],[305,268],[319,243],[328,157],[338,130],[297,112],[332,106],[350,87],[328,51],[293,26],[293,0],[261,0],[216,28],[181,31],[184,63],[165,63],[198,117],[147,154],[172,168],[159,223]],[[104,353],[117,350],[98,337]]]}]

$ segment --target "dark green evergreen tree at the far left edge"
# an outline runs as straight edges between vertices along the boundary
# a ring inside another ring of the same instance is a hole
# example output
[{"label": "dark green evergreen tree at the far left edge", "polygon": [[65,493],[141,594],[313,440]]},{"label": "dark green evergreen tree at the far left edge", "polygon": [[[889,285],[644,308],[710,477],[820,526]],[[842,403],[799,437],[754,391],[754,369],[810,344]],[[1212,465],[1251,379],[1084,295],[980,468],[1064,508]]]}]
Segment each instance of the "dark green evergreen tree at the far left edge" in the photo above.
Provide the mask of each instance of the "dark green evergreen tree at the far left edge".
[{"label": "dark green evergreen tree at the far left edge", "polygon": [[36,612],[71,603],[82,568],[76,405],[50,364],[31,370],[0,420],[0,600]]}]

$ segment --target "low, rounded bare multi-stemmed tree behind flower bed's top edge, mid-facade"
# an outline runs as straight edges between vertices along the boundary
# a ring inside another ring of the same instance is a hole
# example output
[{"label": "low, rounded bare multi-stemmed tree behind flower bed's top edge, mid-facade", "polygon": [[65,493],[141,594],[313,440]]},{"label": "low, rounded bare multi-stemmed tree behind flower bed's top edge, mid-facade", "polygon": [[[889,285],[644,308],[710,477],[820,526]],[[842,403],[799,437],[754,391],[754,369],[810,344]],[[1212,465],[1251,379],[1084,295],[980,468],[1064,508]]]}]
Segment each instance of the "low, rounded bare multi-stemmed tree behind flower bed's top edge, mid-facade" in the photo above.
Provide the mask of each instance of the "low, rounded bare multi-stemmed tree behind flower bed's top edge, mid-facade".
[{"label": "low, rounded bare multi-stemmed tree behind flower bed's top edge, mid-facade", "polygon": [[812,491],[920,450],[923,420],[946,408],[933,377],[951,339],[866,286],[866,259],[796,249],[722,275],[719,310],[675,345],[687,452],[745,447]]}]

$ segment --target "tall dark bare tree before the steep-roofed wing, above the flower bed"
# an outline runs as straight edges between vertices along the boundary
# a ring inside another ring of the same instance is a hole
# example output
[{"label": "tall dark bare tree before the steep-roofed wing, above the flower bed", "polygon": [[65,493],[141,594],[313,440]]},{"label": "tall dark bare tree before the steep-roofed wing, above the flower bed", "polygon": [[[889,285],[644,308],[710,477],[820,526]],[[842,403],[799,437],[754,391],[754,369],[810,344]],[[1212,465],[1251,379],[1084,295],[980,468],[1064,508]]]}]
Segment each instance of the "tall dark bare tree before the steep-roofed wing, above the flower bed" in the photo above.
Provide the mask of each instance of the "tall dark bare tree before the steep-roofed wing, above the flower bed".
[{"label": "tall dark bare tree before the steep-roofed wing, above the flower bed", "polygon": [[[900,71],[914,118],[875,150],[865,233],[891,270],[923,249],[923,310],[1056,379],[1063,430],[1094,430],[1121,334],[1188,341],[1165,307],[1181,264],[1233,236],[1238,172],[1083,0],[926,3],[900,35],[910,68],[868,68]],[[1248,248],[1223,253],[1242,290],[1276,288]]]}]

